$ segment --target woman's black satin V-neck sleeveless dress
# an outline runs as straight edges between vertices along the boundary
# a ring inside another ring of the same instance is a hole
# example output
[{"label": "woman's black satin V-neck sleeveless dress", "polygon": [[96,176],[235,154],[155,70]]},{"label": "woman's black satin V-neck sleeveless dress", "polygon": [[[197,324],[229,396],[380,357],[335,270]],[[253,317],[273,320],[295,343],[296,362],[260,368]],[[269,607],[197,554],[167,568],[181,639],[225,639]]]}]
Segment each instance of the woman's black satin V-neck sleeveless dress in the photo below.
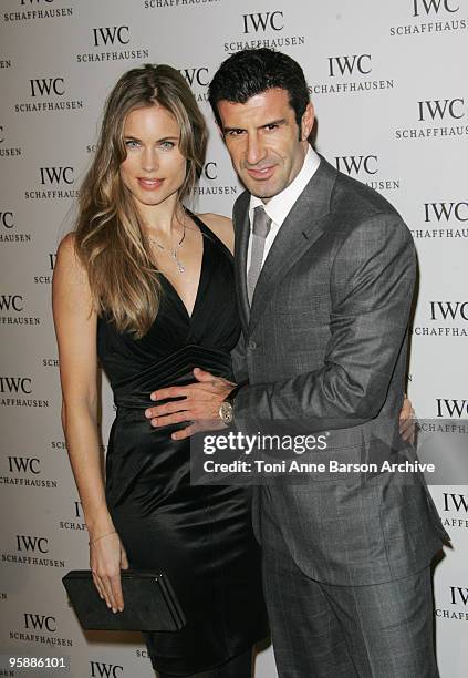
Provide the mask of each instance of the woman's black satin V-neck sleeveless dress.
[{"label": "woman's black satin V-neck sleeveless dress", "polygon": [[174,676],[220,665],[267,635],[248,492],[190,485],[189,441],[173,441],[174,428],[154,429],[144,415],[154,404],[152,391],[194,381],[194,367],[231,378],[230,350],[240,333],[232,256],[190,216],[204,236],[191,317],[162,276],[159,311],[142,339],[104,318],[97,326],[97,352],[117,408],[107,505],[131,566],[163,568],[184,608],[180,631],[145,634],[154,668]]}]

